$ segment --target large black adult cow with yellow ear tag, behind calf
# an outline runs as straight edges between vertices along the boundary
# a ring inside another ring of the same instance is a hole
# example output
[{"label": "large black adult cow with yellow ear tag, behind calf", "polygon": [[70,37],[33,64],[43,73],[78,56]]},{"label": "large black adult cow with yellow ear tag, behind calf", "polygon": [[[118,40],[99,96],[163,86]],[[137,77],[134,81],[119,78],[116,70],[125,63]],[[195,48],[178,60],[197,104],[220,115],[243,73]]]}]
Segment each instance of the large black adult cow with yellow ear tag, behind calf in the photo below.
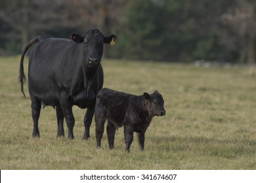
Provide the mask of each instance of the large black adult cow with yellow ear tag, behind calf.
[{"label": "large black adult cow with yellow ear tag, behind calf", "polygon": [[[85,134],[89,138],[96,95],[103,85],[103,70],[100,64],[103,44],[114,44],[116,35],[105,37],[98,29],[84,35],[72,33],[71,39],[35,37],[22,52],[20,76],[23,91],[26,82],[23,61],[27,50],[33,48],[28,65],[28,89],[32,101],[33,137],[39,137],[38,119],[41,105],[56,107],[57,137],[64,136],[63,120],[68,126],[68,138],[74,139],[75,118],[72,106],[87,108],[84,118]],[[24,94],[25,96],[25,94]]]}]

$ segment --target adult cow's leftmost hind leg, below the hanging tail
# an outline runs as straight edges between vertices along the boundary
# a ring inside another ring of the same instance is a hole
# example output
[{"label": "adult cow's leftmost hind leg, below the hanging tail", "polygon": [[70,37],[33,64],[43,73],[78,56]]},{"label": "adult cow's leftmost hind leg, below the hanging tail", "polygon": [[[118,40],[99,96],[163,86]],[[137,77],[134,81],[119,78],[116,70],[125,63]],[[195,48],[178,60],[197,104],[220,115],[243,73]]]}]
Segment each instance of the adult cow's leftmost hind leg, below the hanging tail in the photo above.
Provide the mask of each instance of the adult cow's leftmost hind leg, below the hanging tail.
[{"label": "adult cow's leftmost hind leg, below the hanging tail", "polygon": [[31,108],[32,108],[32,118],[33,118],[33,137],[40,137],[38,129],[38,119],[41,111],[41,101],[31,97]]}]

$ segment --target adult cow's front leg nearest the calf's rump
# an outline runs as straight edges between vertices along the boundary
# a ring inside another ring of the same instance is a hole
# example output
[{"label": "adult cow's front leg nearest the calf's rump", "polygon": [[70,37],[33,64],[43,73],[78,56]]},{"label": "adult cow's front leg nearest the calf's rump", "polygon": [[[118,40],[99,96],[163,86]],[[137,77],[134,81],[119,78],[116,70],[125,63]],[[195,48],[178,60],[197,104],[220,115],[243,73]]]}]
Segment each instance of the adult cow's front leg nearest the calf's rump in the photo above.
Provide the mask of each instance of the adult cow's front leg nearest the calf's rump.
[{"label": "adult cow's front leg nearest the calf's rump", "polygon": [[93,114],[95,114],[95,101],[87,107],[87,111],[85,113],[85,118],[83,120],[83,124],[85,124],[85,134],[83,135],[83,139],[88,139],[90,137],[90,127],[93,120]]}]

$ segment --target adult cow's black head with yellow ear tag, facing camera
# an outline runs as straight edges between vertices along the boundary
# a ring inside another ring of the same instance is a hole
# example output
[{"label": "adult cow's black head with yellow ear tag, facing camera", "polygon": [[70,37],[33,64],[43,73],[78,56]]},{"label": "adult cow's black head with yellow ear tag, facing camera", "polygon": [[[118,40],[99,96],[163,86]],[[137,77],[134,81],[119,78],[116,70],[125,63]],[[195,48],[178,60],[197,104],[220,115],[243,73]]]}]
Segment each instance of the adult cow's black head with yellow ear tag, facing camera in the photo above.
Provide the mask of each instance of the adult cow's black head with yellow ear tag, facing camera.
[{"label": "adult cow's black head with yellow ear tag, facing camera", "polygon": [[98,29],[91,29],[84,35],[72,33],[70,37],[74,42],[83,45],[83,61],[90,68],[97,67],[100,63],[104,43],[114,44],[117,39],[116,35],[105,37]]}]

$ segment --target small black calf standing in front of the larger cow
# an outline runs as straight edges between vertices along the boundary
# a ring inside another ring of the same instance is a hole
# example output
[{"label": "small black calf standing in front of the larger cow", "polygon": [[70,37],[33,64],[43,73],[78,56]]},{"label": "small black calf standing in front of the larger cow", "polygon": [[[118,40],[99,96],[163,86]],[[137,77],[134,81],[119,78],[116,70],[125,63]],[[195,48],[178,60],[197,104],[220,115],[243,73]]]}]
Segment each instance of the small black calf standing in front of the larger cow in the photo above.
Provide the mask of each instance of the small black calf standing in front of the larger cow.
[{"label": "small black calf standing in front of the larger cow", "polygon": [[158,91],[151,95],[131,95],[103,88],[97,95],[95,106],[96,142],[100,148],[100,141],[106,127],[108,144],[114,148],[116,128],[124,126],[125,144],[127,152],[133,142],[133,132],[137,132],[140,150],[144,150],[145,132],[154,116],[165,115],[163,97]]}]

